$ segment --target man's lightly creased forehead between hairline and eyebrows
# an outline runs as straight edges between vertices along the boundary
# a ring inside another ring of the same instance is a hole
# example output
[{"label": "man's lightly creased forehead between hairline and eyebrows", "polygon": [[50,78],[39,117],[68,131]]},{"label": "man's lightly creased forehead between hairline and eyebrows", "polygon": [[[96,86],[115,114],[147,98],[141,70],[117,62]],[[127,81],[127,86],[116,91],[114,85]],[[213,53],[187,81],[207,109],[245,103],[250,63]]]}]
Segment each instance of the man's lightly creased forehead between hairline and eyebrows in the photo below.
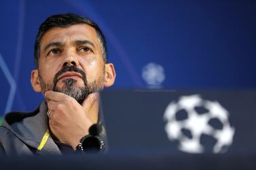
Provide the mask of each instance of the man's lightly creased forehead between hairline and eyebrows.
[{"label": "man's lightly creased forehead between hairline and eyebrows", "polygon": [[75,24],[66,28],[54,27],[50,28],[41,39],[41,47],[51,42],[75,41],[75,40],[90,40],[100,47],[96,30],[88,24]]}]

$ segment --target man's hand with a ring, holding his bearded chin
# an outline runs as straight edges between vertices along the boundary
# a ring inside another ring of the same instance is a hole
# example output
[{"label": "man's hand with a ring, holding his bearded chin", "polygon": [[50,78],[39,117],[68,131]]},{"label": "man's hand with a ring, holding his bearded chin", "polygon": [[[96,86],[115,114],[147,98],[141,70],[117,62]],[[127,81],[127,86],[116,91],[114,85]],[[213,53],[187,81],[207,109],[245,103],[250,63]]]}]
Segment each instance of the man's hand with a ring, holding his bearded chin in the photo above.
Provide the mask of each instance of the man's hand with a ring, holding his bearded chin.
[{"label": "man's hand with a ring, holding his bearded chin", "polygon": [[98,93],[91,93],[80,105],[74,98],[56,91],[45,92],[51,132],[75,150],[81,137],[98,119]]}]

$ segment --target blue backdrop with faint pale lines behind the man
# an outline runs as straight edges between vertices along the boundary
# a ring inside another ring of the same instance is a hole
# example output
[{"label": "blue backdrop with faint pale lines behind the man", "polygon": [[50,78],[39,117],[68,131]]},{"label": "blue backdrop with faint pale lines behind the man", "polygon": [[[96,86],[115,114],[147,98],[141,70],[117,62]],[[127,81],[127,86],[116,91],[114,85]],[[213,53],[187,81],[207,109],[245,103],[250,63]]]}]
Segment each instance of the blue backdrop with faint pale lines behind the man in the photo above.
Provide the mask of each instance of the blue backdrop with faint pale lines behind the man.
[{"label": "blue backdrop with faint pale lines behind the man", "polygon": [[[117,71],[111,88],[254,89],[255,7],[255,1],[1,1],[0,116],[43,100],[30,84],[35,35],[45,18],[66,12],[92,18],[105,33]],[[155,83],[142,76],[149,63]]]}]

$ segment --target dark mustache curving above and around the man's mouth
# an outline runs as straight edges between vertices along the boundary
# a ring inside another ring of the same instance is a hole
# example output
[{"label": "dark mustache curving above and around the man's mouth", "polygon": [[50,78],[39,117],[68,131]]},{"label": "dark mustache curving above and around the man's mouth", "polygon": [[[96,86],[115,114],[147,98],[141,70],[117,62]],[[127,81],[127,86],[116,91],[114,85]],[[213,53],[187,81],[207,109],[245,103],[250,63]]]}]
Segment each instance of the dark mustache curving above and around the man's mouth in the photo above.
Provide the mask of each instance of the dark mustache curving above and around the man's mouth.
[{"label": "dark mustache curving above and around the man's mouth", "polygon": [[56,87],[56,84],[57,84],[57,81],[58,81],[58,77],[63,75],[65,72],[78,72],[81,75],[81,79],[83,79],[85,85],[87,84],[86,73],[83,70],[81,70],[80,68],[77,68],[75,66],[65,66],[61,70],[59,70],[56,73],[56,75],[54,76],[54,89]]}]

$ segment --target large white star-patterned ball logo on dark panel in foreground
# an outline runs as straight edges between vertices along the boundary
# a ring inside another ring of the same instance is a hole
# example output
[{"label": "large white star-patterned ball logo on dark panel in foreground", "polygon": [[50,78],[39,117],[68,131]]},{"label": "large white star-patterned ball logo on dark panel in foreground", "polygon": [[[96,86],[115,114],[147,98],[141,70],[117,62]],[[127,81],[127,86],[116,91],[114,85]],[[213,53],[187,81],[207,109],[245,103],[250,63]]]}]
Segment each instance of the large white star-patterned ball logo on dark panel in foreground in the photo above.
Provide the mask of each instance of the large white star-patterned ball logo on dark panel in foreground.
[{"label": "large white star-patterned ball logo on dark panel in foreground", "polygon": [[[202,144],[202,137],[208,135],[215,140],[211,152],[223,153],[232,144],[235,133],[228,116],[229,112],[219,102],[203,100],[200,95],[182,96],[166,108],[165,130],[168,139],[177,141],[183,152],[205,152],[207,146]],[[219,127],[213,122],[219,123]]]}]

